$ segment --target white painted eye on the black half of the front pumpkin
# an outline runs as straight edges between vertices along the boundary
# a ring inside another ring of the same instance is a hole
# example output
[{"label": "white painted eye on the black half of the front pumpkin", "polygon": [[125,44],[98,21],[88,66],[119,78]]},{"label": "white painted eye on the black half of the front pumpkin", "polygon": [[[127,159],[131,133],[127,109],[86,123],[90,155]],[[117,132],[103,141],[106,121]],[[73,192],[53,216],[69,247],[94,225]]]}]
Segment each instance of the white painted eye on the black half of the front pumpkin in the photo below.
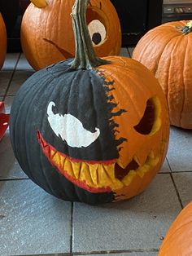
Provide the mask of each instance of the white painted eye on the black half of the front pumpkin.
[{"label": "white painted eye on the black half of the front pumpkin", "polygon": [[55,103],[50,101],[47,107],[48,121],[51,129],[57,135],[68,143],[68,146],[72,148],[83,148],[88,147],[91,143],[94,143],[100,135],[100,130],[95,128],[95,132],[92,133],[86,130],[81,121],[71,114],[65,114],[64,116],[60,113],[53,113],[53,107]]}]

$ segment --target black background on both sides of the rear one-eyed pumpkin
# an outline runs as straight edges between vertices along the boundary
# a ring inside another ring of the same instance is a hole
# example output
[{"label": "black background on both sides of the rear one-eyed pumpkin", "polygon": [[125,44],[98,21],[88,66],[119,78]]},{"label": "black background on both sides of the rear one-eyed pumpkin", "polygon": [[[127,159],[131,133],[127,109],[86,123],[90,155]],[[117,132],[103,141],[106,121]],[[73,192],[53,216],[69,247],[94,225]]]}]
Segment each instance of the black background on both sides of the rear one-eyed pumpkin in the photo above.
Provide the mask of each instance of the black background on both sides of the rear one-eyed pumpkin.
[{"label": "black background on both sides of the rear one-eyed pumpkin", "polygon": [[[29,0],[0,0],[7,26],[7,51],[21,51],[20,22]],[[163,0],[111,0],[122,29],[123,46],[135,46],[149,29],[161,24]]]}]

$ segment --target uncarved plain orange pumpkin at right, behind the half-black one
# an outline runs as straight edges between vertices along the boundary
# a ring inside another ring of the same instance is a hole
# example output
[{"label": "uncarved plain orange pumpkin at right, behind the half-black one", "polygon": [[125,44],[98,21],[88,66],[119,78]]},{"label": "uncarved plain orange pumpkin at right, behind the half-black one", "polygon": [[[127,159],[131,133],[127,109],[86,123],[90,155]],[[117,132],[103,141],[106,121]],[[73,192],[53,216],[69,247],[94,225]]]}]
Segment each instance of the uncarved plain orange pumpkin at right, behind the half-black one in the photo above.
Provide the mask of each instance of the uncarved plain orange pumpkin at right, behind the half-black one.
[{"label": "uncarved plain orange pumpkin at right, behind the half-black one", "polygon": [[133,59],[158,78],[173,126],[192,129],[191,22],[172,21],[151,29],[137,43]]}]

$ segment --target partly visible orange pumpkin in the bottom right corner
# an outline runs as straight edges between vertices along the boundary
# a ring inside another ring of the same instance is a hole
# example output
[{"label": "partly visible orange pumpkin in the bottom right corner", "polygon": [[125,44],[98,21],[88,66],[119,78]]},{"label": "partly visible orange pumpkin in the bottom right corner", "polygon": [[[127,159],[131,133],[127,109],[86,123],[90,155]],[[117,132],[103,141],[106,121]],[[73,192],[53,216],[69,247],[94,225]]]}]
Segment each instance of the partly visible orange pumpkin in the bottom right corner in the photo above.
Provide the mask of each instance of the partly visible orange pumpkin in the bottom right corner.
[{"label": "partly visible orange pumpkin in the bottom right corner", "polygon": [[186,205],[168,230],[159,256],[192,255],[192,201]]}]

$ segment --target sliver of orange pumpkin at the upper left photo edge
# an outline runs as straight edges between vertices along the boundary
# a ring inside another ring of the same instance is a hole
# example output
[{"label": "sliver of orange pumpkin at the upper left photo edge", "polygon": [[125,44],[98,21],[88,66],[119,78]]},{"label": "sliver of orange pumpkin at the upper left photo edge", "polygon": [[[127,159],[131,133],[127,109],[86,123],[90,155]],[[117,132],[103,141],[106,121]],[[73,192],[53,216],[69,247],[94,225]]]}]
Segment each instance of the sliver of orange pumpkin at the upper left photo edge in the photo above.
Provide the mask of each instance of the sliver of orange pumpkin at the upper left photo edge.
[{"label": "sliver of orange pumpkin at the upper left photo edge", "polygon": [[0,13],[0,69],[4,63],[7,51],[7,32],[6,26]]}]

